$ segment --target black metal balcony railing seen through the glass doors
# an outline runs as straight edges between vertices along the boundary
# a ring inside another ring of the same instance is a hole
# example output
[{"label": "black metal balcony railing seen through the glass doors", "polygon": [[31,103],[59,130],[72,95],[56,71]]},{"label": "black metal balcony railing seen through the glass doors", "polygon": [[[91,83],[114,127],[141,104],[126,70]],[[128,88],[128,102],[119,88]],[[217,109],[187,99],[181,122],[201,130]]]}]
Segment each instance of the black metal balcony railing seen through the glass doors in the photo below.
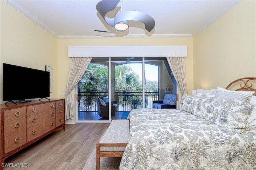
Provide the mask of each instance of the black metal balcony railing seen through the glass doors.
[{"label": "black metal balcony railing seen through the glass doors", "polygon": [[[108,92],[78,93],[78,111],[98,111],[95,97],[108,96]],[[142,92],[116,92],[114,101],[118,103],[118,111],[131,111],[142,108]],[[158,100],[158,92],[145,92],[145,108],[152,108],[153,101]]]}]

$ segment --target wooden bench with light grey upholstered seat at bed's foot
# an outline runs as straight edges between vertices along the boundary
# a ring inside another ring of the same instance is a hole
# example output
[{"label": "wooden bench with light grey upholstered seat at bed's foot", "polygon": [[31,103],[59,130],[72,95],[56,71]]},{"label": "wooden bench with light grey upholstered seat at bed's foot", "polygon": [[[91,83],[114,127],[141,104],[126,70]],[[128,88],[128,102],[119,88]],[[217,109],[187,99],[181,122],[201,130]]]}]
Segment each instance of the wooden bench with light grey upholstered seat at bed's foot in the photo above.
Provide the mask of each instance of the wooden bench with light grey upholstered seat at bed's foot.
[{"label": "wooden bench with light grey upholstered seat at bed's foot", "polygon": [[102,138],[96,143],[96,170],[100,169],[100,157],[122,157],[129,137],[128,119],[112,120]]}]

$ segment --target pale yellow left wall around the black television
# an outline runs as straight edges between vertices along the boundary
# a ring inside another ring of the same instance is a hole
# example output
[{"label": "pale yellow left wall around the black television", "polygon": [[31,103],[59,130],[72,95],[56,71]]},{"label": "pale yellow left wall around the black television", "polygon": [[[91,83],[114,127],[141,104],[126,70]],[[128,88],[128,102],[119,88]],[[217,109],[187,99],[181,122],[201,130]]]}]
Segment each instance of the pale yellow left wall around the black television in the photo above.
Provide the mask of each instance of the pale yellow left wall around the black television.
[{"label": "pale yellow left wall around the black television", "polygon": [[[50,98],[58,98],[57,38],[3,0],[0,1],[0,4],[0,102],[3,103],[2,63],[40,70],[45,70],[45,65],[53,67],[53,87]],[[21,73],[13,74],[15,78]]]}]

